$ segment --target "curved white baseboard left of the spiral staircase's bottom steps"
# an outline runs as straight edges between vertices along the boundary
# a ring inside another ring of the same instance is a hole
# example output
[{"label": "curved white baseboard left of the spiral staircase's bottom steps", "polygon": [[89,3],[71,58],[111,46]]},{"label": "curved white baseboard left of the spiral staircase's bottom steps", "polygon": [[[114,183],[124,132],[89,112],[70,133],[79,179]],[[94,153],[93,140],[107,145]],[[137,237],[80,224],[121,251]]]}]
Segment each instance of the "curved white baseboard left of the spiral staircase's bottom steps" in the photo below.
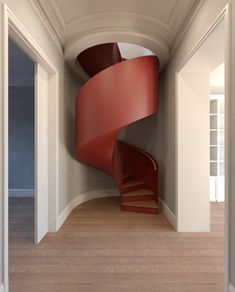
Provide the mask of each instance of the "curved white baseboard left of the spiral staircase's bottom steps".
[{"label": "curved white baseboard left of the spiral staircase's bottom steps", "polygon": [[60,229],[62,224],[65,222],[65,220],[68,218],[69,214],[71,211],[77,207],[78,205],[89,201],[93,199],[98,199],[98,198],[106,198],[106,197],[113,197],[113,196],[119,196],[119,192],[117,189],[101,189],[101,190],[96,190],[92,192],[87,192],[78,195],[75,197],[65,208],[64,210],[60,213],[58,220],[57,220],[57,231]]}]

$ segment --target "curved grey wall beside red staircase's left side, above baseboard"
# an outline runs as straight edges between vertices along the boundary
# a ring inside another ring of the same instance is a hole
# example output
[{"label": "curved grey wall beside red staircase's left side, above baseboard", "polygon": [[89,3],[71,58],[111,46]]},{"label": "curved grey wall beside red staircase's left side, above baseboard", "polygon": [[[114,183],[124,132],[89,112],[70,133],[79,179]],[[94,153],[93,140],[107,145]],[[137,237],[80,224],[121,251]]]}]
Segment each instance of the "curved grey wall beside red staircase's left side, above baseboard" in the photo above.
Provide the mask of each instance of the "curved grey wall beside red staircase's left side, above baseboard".
[{"label": "curved grey wall beside red staircase's left side, above baseboard", "polygon": [[[61,161],[60,189],[66,196],[60,196],[59,212],[79,194],[100,189],[115,188],[113,178],[105,172],[80,163],[75,157],[75,103],[76,96],[84,81],[79,80],[70,69],[65,66],[64,90],[65,98],[61,101],[60,111],[63,120],[60,120],[61,143],[65,145],[68,159]],[[64,173],[67,176],[64,176]],[[61,193],[62,194],[62,193]]]}]

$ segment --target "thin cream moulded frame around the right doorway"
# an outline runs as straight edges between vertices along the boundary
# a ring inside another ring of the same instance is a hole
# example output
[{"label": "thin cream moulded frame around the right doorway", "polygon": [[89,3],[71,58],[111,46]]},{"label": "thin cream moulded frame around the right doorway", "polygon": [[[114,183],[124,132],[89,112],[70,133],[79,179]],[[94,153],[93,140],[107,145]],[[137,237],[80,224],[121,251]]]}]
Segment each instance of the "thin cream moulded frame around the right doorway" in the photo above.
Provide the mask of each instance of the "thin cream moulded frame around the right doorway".
[{"label": "thin cream moulded frame around the right doorway", "polygon": [[[175,190],[176,190],[176,229],[179,230],[178,226],[178,205],[179,205],[179,196],[178,196],[178,78],[180,71],[187,64],[187,62],[191,59],[191,57],[197,52],[197,50],[201,47],[201,45],[208,39],[208,37],[213,33],[216,29],[217,25],[219,25],[222,21],[225,23],[225,210],[224,210],[224,218],[225,218],[225,291],[227,291],[230,285],[230,271],[231,271],[231,259],[230,259],[230,251],[231,251],[231,240],[229,230],[231,230],[231,197],[232,197],[232,186],[231,182],[232,178],[232,163],[231,163],[231,138],[232,137],[232,125],[231,125],[231,59],[232,59],[232,43],[231,43],[231,26],[232,26],[232,9],[231,4],[227,4],[224,9],[220,12],[220,14],[215,18],[213,23],[210,25],[208,30],[204,33],[202,38],[197,42],[197,44],[193,47],[193,49],[189,52],[189,54],[184,58],[183,62],[177,68],[175,72],[175,93],[176,93],[176,102],[175,102],[175,133],[176,133],[176,146],[175,146]],[[209,182],[208,182],[209,183]]]}]

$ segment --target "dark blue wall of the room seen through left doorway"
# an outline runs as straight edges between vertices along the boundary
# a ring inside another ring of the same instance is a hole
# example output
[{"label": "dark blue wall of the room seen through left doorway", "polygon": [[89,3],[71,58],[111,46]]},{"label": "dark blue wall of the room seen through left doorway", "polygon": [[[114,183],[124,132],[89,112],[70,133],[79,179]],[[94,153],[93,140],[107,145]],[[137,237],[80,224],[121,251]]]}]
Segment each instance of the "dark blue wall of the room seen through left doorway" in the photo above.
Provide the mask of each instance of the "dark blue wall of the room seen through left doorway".
[{"label": "dark blue wall of the room seen through left doorway", "polygon": [[9,88],[9,189],[34,189],[34,87]]}]

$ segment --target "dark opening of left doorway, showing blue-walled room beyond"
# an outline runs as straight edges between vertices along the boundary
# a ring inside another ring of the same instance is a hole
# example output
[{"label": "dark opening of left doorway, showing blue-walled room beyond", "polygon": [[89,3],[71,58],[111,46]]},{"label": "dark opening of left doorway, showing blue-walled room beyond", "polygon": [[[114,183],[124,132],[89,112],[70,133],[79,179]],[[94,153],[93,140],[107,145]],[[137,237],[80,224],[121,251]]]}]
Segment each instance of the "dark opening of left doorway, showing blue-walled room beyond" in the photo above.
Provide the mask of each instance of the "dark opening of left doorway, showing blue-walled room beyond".
[{"label": "dark opening of left doorway, showing blue-walled room beyond", "polygon": [[[34,242],[34,62],[9,39],[9,242]],[[11,256],[11,255],[10,255]]]}]

